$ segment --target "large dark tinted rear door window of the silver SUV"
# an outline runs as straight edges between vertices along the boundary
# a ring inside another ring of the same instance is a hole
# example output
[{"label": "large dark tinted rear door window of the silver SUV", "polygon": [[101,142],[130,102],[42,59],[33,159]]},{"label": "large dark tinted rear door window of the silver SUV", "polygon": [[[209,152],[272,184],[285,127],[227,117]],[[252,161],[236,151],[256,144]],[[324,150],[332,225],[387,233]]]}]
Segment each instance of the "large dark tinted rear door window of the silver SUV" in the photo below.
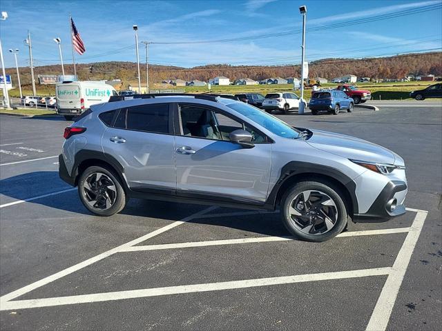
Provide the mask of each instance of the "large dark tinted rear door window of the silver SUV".
[{"label": "large dark tinted rear door window of the silver SUV", "polygon": [[155,103],[128,108],[128,130],[169,133],[169,104]]}]

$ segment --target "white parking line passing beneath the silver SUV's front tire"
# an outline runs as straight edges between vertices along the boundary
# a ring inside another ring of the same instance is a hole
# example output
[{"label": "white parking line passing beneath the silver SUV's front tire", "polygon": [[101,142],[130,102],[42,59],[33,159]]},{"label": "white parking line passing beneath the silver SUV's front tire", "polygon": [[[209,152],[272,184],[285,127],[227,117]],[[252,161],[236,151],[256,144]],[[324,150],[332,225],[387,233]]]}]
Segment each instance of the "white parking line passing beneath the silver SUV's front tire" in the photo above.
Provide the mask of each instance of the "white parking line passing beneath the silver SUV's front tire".
[{"label": "white parking line passing beneath the silver SUV's front tire", "polygon": [[[212,215],[206,215],[211,218]],[[356,236],[372,236],[376,234],[394,234],[410,231],[410,228],[395,228],[383,230],[366,230],[366,231],[349,231],[338,234],[336,237],[356,237]],[[209,241],[193,241],[187,243],[162,243],[158,245],[140,245],[131,246],[122,249],[120,252],[139,252],[143,250],[173,250],[177,248],[206,247],[217,245],[236,245],[238,243],[269,243],[273,241],[291,241],[294,237],[257,237],[257,238],[240,238],[240,239],[222,239]]]}]

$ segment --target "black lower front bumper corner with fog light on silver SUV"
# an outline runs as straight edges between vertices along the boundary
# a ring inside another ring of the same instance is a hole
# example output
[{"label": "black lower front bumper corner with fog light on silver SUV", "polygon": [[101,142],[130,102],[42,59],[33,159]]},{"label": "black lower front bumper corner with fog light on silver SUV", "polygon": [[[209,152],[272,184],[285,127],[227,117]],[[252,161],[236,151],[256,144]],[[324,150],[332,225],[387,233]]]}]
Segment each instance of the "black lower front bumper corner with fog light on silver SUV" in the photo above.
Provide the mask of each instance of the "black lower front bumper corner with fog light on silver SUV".
[{"label": "black lower front bumper corner with fog light on silver SUV", "polygon": [[354,214],[354,221],[387,221],[392,217],[405,214],[404,201],[406,195],[407,183],[405,181],[390,181],[379,193],[367,212],[364,214]]}]

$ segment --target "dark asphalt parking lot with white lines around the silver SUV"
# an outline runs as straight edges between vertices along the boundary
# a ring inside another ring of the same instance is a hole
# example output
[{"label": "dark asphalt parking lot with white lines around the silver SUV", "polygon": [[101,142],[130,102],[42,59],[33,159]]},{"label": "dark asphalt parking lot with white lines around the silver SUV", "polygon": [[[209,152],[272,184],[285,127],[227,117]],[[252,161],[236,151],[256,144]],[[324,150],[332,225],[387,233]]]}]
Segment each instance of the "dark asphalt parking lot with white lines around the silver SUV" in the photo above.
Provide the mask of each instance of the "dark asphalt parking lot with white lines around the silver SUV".
[{"label": "dark asphalt parking lot with white lines around the silver SUV", "polygon": [[270,212],[132,199],[92,216],[58,177],[70,122],[0,115],[1,329],[439,330],[442,105],[379,108],[277,114],[405,159],[408,212],[325,243]]}]

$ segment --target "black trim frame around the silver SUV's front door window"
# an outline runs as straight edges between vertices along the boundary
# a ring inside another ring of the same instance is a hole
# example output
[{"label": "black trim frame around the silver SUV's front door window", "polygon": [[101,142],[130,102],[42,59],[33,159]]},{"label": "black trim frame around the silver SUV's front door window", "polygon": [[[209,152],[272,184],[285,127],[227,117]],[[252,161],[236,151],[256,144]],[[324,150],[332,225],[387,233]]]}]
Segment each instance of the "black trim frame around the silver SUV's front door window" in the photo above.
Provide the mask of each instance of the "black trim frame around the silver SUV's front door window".
[{"label": "black trim frame around the silver SUV's front door window", "polygon": [[265,139],[266,139],[266,141],[261,141],[261,142],[257,141],[257,142],[254,142],[253,144],[275,143],[275,141],[273,141],[273,139],[271,139],[267,134],[263,133],[261,130],[258,130],[255,126],[252,126],[249,122],[243,121],[242,119],[236,117],[235,115],[230,114],[229,112],[226,112],[225,110],[222,110],[220,108],[216,108],[216,107],[213,107],[213,106],[209,106],[209,105],[204,105],[204,104],[201,104],[201,103],[192,103],[192,102],[188,102],[188,101],[186,101],[186,102],[174,102],[173,103],[173,114],[174,114],[173,127],[174,127],[175,136],[177,136],[177,137],[186,137],[186,138],[193,138],[193,139],[204,139],[204,140],[211,140],[211,141],[223,141],[223,142],[226,142],[226,143],[235,143],[233,141],[220,140],[220,139],[184,136],[184,134],[182,134],[182,132],[181,132],[182,128],[180,126],[180,108],[179,108],[179,106],[181,106],[181,105],[183,105],[183,106],[200,107],[200,108],[208,108],[209,110],[211,110],[213,112],[220,112],[224,116],[229,117],[230,119],[233,119],[233,121],[238,121],[240,123],[244,123],[245,125],[249,126],[253,130],[256,130],[257,132],[262,134],[262,136],[265,137]]}]

